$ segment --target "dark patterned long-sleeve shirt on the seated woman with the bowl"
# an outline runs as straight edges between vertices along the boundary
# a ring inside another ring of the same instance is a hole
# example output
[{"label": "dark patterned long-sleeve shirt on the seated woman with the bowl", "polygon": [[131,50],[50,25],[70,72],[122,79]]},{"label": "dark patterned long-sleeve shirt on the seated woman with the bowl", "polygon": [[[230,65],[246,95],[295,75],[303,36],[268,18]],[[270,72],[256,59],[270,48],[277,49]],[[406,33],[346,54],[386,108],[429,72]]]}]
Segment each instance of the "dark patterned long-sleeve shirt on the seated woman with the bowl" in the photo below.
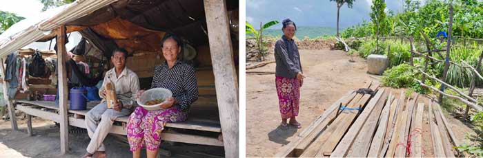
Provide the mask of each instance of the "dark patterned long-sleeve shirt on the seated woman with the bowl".
[{"label": "dark patterned long-sleeve shirt on the seated woman with the bowl", "polygon": [[151,88],[165,88],[172,91],[172,97],[179,102],[175,106],[186,113],[191,103],[198,99],[195,69],[179,60],[171,68],[166,62],[156,66]]}]

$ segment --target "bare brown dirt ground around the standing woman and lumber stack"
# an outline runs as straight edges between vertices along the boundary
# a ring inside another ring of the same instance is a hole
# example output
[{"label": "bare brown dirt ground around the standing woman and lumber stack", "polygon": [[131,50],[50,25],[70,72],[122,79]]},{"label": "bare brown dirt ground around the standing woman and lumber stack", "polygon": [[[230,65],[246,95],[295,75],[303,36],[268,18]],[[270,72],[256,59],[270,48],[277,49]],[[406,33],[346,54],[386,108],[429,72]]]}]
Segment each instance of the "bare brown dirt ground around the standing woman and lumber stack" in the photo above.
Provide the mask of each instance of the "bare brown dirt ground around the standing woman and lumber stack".
[{"label": "bare brown dirt ground around the standing woman and lumber stack", "polygon": [[[293,136],[311,124],[326,108],[350,90],[362,87],[366,82],[377,80],[379,76],[367,74],[366,60],[350,56],[339,50],[301,49],[302,68],[306,79],[301,88],[299,116],[301,129],[280,128],[280,114],[275,76],[273,74],[253,74],[249,71],[275,71],[275,63],[247,70],[246,75],[246,156],[273,157]],[[275,60],[273,54],[268,60]],[[466,126],[444,111],[446,119],[458,139],[474,135],[471,126]],[[426,121],[427,122],[427,121]],[[425,140],[426,141],[426,140]],[[431,142],[431,139],[429,139]],[[430,152],[430,151],[428,151]]]}]

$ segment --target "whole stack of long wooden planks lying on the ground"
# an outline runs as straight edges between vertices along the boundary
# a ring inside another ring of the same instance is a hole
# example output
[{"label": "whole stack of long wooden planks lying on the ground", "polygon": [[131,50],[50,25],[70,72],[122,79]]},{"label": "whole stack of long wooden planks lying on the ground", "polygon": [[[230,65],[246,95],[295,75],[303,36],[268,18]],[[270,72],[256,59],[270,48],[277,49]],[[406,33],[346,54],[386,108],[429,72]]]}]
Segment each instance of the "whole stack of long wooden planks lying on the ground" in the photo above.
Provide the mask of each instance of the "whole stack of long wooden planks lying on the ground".
[{"label": "whole stack of long wooden planks lying on the ground", "polygon": [[[404,91],[349,91],[275,157],[455,157],[459,144],[440,105]],[[399,93],[399,95],[397,95]]]}]

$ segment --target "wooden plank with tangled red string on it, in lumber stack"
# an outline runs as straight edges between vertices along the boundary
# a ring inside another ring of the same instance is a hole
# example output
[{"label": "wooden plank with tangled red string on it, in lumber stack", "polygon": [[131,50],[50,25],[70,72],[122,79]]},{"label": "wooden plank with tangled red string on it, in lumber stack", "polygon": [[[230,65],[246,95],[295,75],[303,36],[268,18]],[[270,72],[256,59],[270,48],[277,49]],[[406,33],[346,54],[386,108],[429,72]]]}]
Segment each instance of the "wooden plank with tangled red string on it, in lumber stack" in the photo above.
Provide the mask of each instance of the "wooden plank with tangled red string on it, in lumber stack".
[{"label": "wooden plank with tangled red string on it, in lumber stack", "polygon": [[[412,137],[414,137],[413,142],[411,142],[411,146],[414,146],[413,153],[409,155],[410,157],[421,157],[422,155],[422,116],[424,112],[424,103],[417,104],[417,111],[416,111],[416,120],[415,130],[420,130],[419,133],[414,133]],[[411,138],[412,138],[411,137]]]}]

